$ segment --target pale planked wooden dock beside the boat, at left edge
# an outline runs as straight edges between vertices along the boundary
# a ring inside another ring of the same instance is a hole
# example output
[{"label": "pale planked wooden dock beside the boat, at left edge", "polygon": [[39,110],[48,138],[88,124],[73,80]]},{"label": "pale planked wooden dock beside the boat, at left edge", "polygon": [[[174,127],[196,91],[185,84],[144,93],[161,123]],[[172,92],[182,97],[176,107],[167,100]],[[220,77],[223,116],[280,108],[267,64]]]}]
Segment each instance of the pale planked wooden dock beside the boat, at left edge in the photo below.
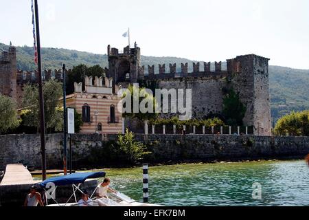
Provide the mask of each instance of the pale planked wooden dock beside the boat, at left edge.
[{"label": "pale planked wooden dock beside the boat, at left edge", "polygon": [[38,181],[33,180],[31,173],[23,164],[8,164],[5,168],[4,177],[0,186],[29,185],[36,183],[38,183]]}]

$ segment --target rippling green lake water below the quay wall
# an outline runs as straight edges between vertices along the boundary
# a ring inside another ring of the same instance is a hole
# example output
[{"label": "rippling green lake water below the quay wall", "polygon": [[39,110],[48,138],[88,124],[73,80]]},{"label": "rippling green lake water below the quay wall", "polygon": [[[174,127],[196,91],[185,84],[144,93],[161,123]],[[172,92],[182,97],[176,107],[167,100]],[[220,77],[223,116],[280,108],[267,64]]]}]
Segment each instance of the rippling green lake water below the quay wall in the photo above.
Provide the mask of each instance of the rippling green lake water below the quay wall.
[{"label": "rippling green lake water below the quay wall", "polygon": [[[142,169],[106,169],[111,186],[142,201]],[[150,203],[165,206],[308,206],[304,161],[185,164],[149,168]],[[262,199],[252,198],[252,184]]]}]

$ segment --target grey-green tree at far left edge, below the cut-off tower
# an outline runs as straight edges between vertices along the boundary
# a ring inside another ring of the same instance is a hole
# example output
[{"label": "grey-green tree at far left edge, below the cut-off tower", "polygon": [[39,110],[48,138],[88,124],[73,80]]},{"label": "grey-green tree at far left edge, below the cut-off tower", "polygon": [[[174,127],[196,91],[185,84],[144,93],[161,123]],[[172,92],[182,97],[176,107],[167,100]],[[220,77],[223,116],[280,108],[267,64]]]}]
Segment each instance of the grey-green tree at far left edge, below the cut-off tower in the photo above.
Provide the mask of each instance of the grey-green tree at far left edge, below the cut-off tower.
[{"label": "grey-green tree at far left edge, below the cut-off tower", "polygon": [[19,126],[16,104],[12,98],[0,94],[0,133]]}]

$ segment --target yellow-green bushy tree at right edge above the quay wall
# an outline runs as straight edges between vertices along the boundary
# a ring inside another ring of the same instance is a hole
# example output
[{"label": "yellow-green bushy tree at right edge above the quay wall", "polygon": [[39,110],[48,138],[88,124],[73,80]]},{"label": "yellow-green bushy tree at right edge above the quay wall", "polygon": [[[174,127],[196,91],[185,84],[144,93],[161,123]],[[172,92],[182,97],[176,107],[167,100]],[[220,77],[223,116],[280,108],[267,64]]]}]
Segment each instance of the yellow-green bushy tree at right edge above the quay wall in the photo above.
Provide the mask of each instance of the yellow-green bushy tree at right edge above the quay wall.
[{"label": "yellow-green bushy tree at right edge above the quay wall", "polygon": [[284,115],[275,125],[275,134],[309,136],[309,110]]}]

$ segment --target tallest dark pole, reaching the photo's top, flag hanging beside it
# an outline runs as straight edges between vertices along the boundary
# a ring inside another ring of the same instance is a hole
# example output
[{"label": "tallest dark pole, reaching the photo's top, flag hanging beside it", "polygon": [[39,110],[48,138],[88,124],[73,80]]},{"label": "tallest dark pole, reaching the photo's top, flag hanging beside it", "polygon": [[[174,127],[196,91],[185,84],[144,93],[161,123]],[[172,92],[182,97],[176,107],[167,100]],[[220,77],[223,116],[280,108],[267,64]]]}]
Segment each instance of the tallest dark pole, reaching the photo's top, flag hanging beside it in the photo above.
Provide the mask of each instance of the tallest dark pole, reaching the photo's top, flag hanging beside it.
[{"label": "tallest dark pole, reaching the photo's top, flag hanging beside it", "polygon": [[45,115],[44,115],[44,96],[42,85],[42,63],[41,63],[41,42],[40,26],[38,22],[38,1],[34,0],[34,12],[36,17],[36,44],[38,52],[38,96],[40,102],[40,129],[41,129],[41,154],[42,154],[42,179],[46,179],[46,152],[45,152]]}]

